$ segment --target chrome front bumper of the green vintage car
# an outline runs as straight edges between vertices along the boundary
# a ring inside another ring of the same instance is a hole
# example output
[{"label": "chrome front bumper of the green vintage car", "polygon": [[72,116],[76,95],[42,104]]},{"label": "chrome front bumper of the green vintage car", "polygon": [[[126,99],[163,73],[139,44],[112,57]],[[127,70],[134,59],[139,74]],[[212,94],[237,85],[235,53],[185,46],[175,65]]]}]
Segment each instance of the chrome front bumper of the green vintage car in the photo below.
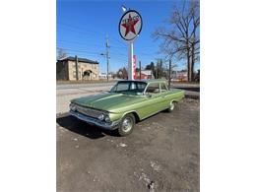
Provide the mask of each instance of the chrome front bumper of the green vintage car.
[{"label": "chrome front bumper of the green vintage car", "polygon": [[107,129],[107,130],[114,130],[114,129],[117,128],[117,126],[119,124],[119,121],[113,121],[113,122],[110,122],[110,123],[106,123],[106,122],[97,120],[96,118],[93,118],[93,117],[87,116],[85,114],[82,114],[80,112],[75,112],[73,110],[70,110],[69,113],[72,116],[75,116],[75,117],[77,117],[78,119],[80,119],[82,121],[85,121],[89,124],[94,124],[98,127],[101,127],[103,129]]}]

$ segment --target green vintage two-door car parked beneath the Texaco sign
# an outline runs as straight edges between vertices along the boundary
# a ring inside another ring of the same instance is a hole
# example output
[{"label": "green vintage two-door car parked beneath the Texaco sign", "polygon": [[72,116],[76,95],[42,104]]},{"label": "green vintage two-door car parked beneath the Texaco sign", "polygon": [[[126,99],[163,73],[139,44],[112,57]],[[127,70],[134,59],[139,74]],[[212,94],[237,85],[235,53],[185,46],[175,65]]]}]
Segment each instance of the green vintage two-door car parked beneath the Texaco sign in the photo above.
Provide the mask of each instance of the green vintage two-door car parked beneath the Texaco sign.
[{"label": "green vintage two-door car parked beneath the Texaco sign", "polygon": [[184,92],[164,80],[119,81],[108,93],[75,98],[70,114],[89,124],[129,135],[135,124],[162,110],[171,112]]}]

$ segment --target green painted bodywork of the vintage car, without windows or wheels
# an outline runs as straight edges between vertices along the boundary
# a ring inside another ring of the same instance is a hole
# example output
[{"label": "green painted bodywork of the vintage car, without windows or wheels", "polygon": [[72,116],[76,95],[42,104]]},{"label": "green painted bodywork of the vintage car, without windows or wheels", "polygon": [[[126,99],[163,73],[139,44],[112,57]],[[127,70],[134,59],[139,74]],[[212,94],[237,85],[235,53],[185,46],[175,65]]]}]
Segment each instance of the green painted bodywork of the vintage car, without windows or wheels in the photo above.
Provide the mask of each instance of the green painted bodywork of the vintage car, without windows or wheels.
[{"label": "green painted bodywork of the vintage car, without windows or wheels", "polygon": [[[163,83],[167,86],[164,80],[141,82],[147,83],[147,86],[156,83]],[[136,113],[141,120],[168,108],[170,101],[180,101],[183,97],[184,91],[171,89],[160,92],[159,94],[152,94],[152,96],[136,95],[136,93],[105,93],[96,96],[75,98],[71,102],[81,106],[107,111],[111,121],[119,120],[130,112]]]}]

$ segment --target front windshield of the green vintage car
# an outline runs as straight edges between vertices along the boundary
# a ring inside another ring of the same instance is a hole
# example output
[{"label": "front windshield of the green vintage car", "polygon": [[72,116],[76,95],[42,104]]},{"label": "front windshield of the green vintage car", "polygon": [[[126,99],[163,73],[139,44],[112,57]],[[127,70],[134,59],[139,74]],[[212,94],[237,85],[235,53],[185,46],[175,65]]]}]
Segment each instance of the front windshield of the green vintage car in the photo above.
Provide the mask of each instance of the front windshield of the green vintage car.
[{"label": "front windshield of the green vintage car", "polygon": [[122,93],[132,95],[142,95],[147,84],[144,82],[118,82],[112,89],[111,93]]}]

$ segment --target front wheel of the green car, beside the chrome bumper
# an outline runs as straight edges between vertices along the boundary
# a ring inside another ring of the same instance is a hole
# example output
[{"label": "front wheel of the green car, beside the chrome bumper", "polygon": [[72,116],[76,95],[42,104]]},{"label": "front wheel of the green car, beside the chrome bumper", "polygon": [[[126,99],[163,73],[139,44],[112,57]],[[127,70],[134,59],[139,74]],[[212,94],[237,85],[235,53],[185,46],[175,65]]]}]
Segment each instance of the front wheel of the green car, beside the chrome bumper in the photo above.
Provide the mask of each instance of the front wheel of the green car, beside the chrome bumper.
[{"label": "front wheel of the green car, beside the chrome bumper", "polygon": [[120,125],[117,129],[118,134],[120,136],[127,136],[127,135],[131,134],[133,131],[134,125],[135,125],[134,115],[132,113],[126,114],[122,118]]}]

